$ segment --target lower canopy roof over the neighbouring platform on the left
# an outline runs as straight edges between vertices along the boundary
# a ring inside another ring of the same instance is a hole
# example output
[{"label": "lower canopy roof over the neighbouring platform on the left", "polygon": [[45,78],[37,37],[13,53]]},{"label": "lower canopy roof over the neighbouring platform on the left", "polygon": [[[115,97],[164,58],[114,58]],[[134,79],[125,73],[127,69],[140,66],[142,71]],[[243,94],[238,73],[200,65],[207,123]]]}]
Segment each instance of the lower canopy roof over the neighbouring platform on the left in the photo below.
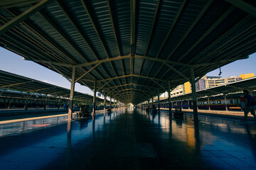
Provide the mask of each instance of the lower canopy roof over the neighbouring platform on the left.
[{"label": "lower canopy roof over the neighbouring platform on the left", "polygon": [[[38,94],[46,99],[56,98],[68,99],[70,96],[70,89],[65,89],[60,86],[55,86],[53,84],[48,84],[43,81],[38,81],[36,79],[30,79],[28,77],[22,77],[17,74],[12,74],[9,72],[4,72],[0,70],[0,96],[6,96],[6,92],[10,90],[21,91],[16,96],[33,96],[33,94]],[[10,94],[10,93],[9,93]],[[82,94],[78,91],[74,92],[75,101],[84,101],[92,103],[93,96],[89,94]],[[14,94],[15,96],[15,94]],[[103,101],[101,98],[97,98],[97,101]]]}]

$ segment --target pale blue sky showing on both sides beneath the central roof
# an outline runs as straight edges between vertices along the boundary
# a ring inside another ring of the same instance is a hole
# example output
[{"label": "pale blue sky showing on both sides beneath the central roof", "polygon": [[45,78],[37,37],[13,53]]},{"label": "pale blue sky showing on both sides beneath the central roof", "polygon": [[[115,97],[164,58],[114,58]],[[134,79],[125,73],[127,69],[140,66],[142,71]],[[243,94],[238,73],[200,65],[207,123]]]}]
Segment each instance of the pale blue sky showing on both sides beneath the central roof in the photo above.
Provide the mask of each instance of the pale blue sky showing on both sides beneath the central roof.
[{"label": "pale blue sky showing on both sides beneath the central roof", "polygon": [[[23,60],[23,57],[2,47],[0,47],[0,59],[0,69],[3,71],[70,89],[70,82],[60,74],[34,62]],[[221,72],[221,77],[223,78],[231,76],[238,77],[240,74],[248,73],[254,73],[256,75],[256,53],[250,55],[249,59],[238,60],[221,67]],[[209,72],[207,76],[218,76],[218,74],[219,69],[216,69],[213,72]],[[89,88],[78,83],[75,84],[75,91],[93,95],[93,92]]]}]

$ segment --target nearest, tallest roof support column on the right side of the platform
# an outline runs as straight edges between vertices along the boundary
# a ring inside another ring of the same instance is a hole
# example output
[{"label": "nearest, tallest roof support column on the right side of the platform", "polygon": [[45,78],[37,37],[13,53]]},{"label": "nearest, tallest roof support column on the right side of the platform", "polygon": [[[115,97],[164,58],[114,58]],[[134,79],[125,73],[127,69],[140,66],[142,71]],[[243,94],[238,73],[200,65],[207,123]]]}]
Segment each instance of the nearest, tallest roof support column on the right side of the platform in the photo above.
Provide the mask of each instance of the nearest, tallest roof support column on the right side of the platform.
[{"label": "nearest, tallest roof support column on the right side of the platform", "polygon": [[191,87],[192,87],[192,102],[193,102],[193,117],[194,121],[198,121],[198,108],[197,108],[197,98],[196,98],[196,81],[195,72],[193,67],[191,67]]}]

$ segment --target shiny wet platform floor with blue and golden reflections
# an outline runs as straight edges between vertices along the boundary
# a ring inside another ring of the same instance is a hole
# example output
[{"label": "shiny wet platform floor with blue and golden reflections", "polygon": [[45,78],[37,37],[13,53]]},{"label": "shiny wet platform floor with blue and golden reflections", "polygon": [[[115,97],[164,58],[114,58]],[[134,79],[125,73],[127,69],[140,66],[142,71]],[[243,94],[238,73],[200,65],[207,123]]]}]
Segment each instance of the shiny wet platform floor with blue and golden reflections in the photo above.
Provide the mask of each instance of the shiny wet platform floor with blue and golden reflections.
[{"label": "shiny wet platform floor with blue and golden reflections", "polygon": [[256,169],[256,124],[118,109],[0,125],[0,169]]}]

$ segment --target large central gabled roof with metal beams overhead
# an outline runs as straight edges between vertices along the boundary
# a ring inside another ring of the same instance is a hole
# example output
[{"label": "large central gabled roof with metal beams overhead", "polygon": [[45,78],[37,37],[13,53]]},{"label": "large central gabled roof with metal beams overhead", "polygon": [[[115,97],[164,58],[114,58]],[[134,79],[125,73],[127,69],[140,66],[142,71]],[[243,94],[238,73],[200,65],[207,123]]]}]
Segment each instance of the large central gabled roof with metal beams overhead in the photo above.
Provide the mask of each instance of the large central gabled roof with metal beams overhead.
[{"label": "large central gabled roof with metal beams overhead", "polygon": [[0,1],[0,43],[122,103],[256,52],[256,1]]}]

